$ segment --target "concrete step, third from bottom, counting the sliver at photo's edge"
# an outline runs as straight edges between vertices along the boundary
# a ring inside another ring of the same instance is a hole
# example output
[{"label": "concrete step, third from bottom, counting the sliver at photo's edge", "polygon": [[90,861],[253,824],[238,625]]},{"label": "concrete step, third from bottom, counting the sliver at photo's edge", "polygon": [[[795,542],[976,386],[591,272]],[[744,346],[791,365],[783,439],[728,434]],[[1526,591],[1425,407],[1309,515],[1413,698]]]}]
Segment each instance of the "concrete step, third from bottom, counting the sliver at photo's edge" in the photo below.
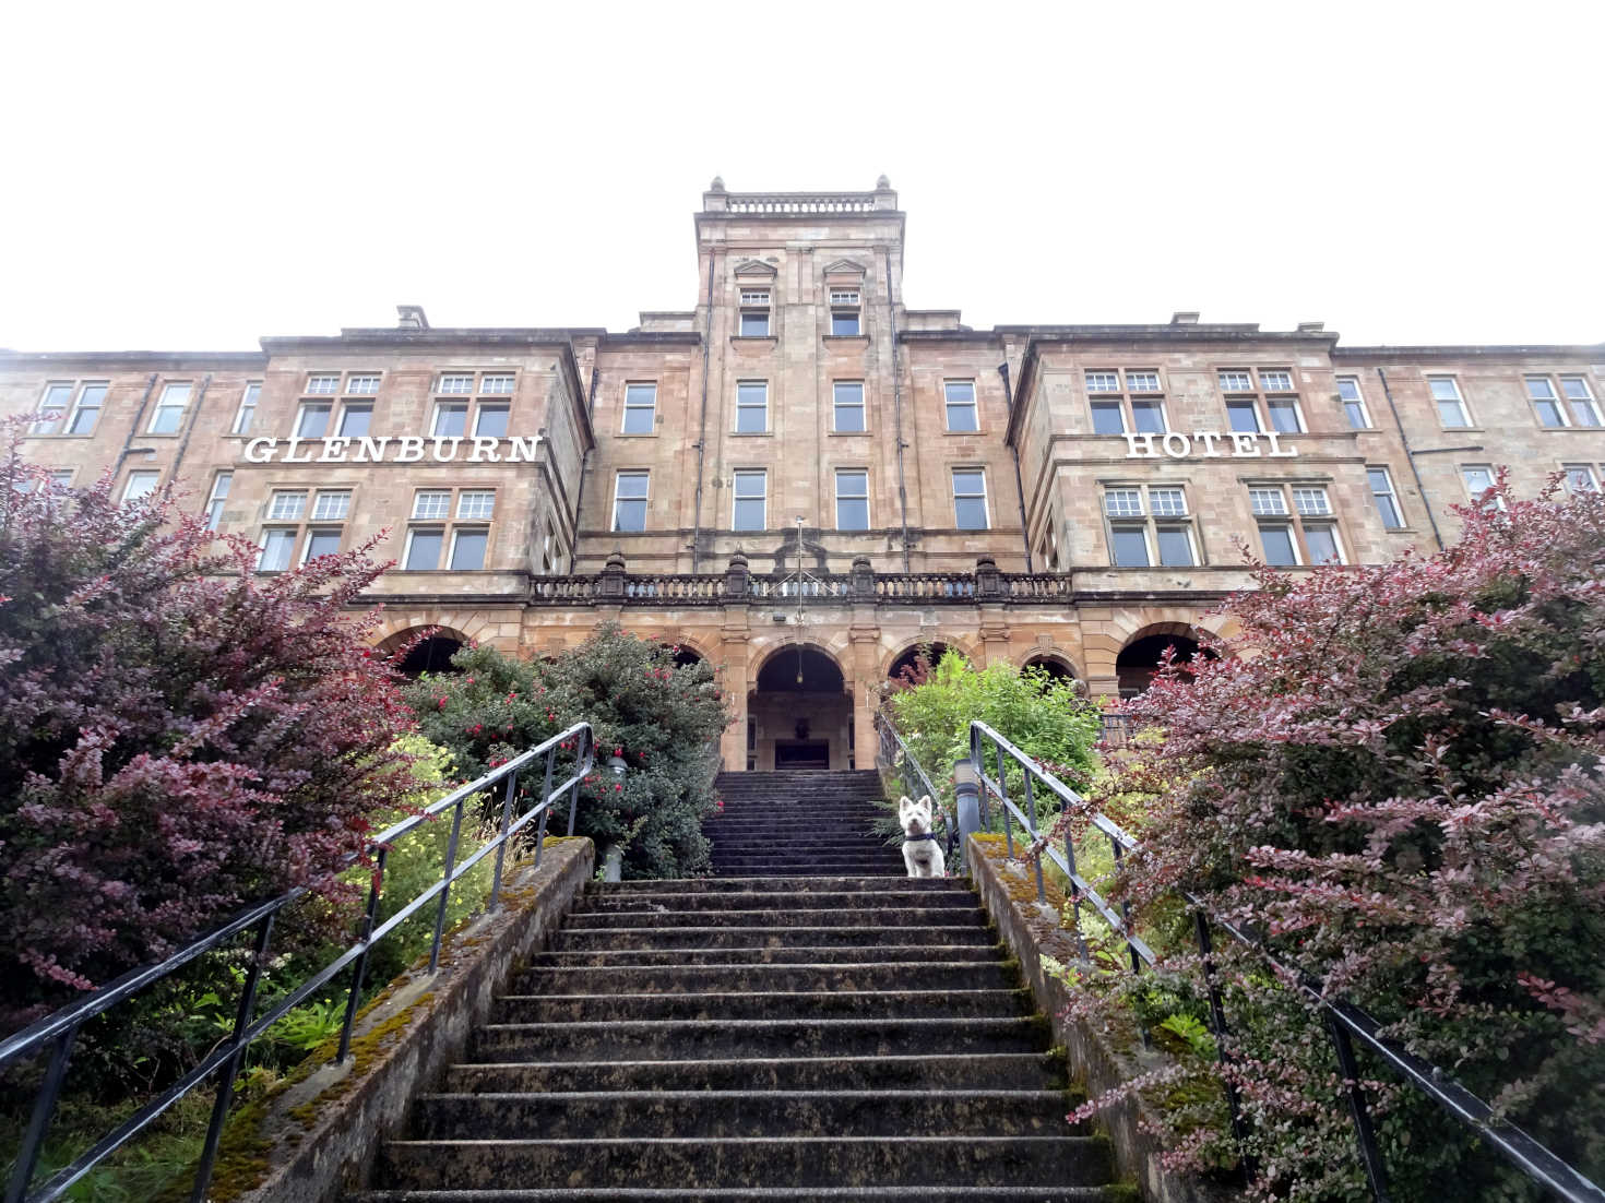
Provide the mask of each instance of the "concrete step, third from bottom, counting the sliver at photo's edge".
[{"label": "concrete step, third from bottom, counting the sliver at photo's edge", "polygon": [[425,1094],[419,1140],[743,1136],[1066,1136],[1059,1091],[595,1091]]}]

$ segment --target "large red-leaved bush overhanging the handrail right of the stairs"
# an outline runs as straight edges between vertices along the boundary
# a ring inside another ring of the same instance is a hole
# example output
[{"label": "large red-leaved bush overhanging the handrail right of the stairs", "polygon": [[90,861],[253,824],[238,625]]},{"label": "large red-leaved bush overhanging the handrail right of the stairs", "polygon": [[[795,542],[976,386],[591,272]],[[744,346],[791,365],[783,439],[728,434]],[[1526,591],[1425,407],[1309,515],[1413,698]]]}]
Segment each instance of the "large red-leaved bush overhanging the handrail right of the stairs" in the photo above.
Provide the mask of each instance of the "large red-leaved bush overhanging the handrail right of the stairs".
[{"label": "large red-leaved bush overhanging the handrail right of the stairs", "polygon": [[[1109,791],[1146,820],[1115,892],[1167,953],[1132,977],[1106,951],[1074,1011],[1130,1030],[1135,1006],[1189,1036],[1128,1088],[1167,1116],[1175,1166],[1249,1156],[1266,1198],[1369,1198],[1318,1015],[1223,937],[1233,1060],[1215,1063],[1183,885],[1605,1177],[1605,497],[1501,483],[1464,520],[1430,558],[1260,571],[1220,658],[1127,706],[1151,735]],[[1536,1197],[1380,1065],[1361,1075],[1395,1198]]]}]

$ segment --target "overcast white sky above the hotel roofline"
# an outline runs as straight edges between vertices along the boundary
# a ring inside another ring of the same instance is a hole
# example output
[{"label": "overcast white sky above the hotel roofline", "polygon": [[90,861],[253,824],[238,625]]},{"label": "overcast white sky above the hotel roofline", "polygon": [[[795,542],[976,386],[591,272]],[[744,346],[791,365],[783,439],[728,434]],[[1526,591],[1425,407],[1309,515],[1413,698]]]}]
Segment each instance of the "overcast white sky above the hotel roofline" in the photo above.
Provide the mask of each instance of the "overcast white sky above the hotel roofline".
[{"label": "overcast white sky above the hotel roofline", "polygon": [[692,212],[868,189],[965,321],[1605,340],[1605,5],[478,3],[0,16],[0,346],[690,308]]}]

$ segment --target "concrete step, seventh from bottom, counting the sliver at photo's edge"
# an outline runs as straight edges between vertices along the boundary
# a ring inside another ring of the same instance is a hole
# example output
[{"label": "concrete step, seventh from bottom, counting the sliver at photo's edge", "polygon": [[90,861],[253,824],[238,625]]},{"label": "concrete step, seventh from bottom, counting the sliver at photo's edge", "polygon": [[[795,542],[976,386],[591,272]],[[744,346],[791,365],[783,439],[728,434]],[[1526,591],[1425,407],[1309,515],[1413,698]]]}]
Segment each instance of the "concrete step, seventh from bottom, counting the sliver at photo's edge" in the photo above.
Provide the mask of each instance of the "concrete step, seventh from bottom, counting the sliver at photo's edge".
[{"label": "concrete step, seventh from bottom, counting the sliver at photo's edge", "polygon": [[595,966],[523,974],[518,994],[698,994],[772,990],[1013,990],[1003,962],[880,961],[872,964]]}]

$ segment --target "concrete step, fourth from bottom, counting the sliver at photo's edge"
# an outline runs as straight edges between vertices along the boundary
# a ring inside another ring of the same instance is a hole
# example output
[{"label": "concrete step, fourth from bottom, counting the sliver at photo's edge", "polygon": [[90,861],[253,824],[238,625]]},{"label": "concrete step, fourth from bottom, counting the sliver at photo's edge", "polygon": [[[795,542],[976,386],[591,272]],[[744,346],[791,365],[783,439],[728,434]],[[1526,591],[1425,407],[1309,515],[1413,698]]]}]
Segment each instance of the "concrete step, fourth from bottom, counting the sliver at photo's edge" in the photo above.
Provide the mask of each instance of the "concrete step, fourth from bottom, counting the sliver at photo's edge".
[{"label": "concrete step, fourth from bottom, counting the sliver at photo's edge", "polygon": [[1053,1052],[916,1052],[886,1057],[745,1057],[709,1060],[485,1062],[453,1065],[451,1094],[542,1091],[1063,1091]]}]

